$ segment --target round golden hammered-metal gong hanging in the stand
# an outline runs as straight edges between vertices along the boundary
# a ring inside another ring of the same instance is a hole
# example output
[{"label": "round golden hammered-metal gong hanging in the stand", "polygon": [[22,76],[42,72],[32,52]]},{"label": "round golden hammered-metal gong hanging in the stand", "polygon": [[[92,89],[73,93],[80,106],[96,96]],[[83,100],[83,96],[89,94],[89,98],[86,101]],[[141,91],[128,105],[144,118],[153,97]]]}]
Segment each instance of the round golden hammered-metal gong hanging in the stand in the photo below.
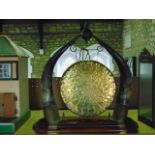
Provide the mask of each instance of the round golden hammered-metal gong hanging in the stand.
[{"label": "round golden hammered-metal gong hanging in the stand", "polygon": [[112,103],[116,84],[110,70],[97,61],[79,61],[62,76],[61,96],[80,116],[97,116]]}]

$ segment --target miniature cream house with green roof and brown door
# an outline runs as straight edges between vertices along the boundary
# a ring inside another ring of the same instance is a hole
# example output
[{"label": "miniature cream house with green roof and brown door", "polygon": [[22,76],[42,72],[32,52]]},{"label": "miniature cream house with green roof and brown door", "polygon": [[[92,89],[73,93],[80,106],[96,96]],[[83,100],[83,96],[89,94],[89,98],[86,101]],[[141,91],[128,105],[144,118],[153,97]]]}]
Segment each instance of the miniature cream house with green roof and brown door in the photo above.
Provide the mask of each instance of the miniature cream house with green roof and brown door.
[{"label": "miniature cream house with green roof and brown door", "polygon": [[14,132],[16,124],[19,126],[20,120],[23,122],[30,114],[29,57],[32,56],[25,49],[7,36],[0,36],[0,133]]}]

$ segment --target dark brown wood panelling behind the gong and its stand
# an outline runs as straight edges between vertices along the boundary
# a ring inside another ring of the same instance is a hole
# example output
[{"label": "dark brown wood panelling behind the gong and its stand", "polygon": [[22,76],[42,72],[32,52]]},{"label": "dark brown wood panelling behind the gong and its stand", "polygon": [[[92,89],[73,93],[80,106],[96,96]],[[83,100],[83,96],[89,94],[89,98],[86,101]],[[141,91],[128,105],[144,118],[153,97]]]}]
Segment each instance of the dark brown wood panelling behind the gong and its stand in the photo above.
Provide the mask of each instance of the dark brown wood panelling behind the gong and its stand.
[{"label": "dark brown wood panelling behind the gong and its stand", "polygon": [[[54,99],[59,109],[66,109],[66,105],[62,100],[60,94],[60,77],[53,77],[53,94]],[[119,78],[116,78],[117,92],[119,90]],[[133,77],[133,82],[131,85],[131,96],[129,100],[129,108],[138,108],[139,103],[139,80],[137,77]],[[114,108],[116,103],[116,96],[109,108]],[[41,109],[42,108],[42,90],[41,90],[41,80],[40,79],[30,79],[29,80],[29,103],[31,109]]]}]

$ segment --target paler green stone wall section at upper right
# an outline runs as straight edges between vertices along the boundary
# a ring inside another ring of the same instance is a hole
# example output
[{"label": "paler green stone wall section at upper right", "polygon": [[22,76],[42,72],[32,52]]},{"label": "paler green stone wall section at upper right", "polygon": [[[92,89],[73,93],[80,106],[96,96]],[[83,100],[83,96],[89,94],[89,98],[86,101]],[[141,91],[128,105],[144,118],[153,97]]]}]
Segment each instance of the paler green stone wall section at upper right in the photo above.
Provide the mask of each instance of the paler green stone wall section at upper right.
[{"label": "paler green stone wall section at upper right", "polygon": [[[131,33],[131,47],[125,48],[125,37]],[[155,53],[155,21],[152,19],[129,19],[123,24],[123,56],[139,56],[143,48]]]}]

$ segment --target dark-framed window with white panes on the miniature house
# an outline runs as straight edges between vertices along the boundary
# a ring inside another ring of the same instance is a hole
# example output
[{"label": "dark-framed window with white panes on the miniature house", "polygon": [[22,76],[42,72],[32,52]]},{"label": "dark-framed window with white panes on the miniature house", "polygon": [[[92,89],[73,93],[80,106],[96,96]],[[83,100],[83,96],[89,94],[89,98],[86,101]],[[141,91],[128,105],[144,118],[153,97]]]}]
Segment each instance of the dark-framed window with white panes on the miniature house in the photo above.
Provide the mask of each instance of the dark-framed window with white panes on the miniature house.
[{"label": "dark-framed window with white panes on the miniature house", "polygon": [[0,80],[13,80],[17,78],[16,62],[0,62]]}]

